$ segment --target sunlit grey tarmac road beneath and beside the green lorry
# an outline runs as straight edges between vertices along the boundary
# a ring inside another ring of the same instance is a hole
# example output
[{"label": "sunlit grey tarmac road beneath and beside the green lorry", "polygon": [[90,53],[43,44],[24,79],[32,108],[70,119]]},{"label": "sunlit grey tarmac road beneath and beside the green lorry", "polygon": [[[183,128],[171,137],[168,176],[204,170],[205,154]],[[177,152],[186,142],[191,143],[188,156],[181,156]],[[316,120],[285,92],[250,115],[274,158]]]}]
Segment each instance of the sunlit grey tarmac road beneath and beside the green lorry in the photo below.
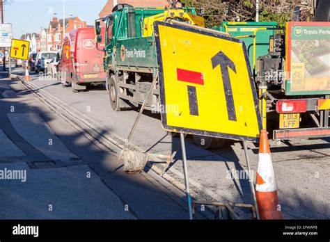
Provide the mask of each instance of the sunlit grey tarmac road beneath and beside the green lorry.
[{"label": "sunlit grey tarmac road beneath and beside the green lorry", "polygon": [[[17,72],[22,72],[22,70],[17,69]],[[112,111],[107,91],[102,87],[72,93],[70,87],[62,88],[61,83],[54,79],[40,79],[36,75],[31,77],[31,83],[38,87],[38,92],[46,91],[74,110],[79,111],[81,115],[92,118],[97,124],[100,124],[100,127],[103,127],[105,134],[115,134],[123,140],[127,138],[137,112]],[[17,85],[19,84],[17,83]],[[14,87],[10,86],[10,88]],[[52,129],[56,130],[56,125]],[[57,129],[61,131],[61,127],[57,127]],[[68,136],[67,132],[67,130],[63,130],[63,134],[58,137],[69,150],[74,149],[70,147],[72,136]],[[201,150],[194,145],[191,137],[188,137],[187,141],[189,178],[194,198],[219,202],[253,203],[249,180],[244,176],[246,161],[242,144],[230,142],[221,149],[209,151]],[[149,112],[146,112],[141,118],[132,140],[132,143],[143,150],[159,154],[171,154],[173,147],[178,142],[178,138],[166,136],[159,115]],[[258,145],[249,143],[248,146],[252,175],[255,177]],[[281,143],[281,145],[272,142],[271,151],[278,196],[285,218],[330,218],[328,202],[330,198],[328,188],[330,181],[329,148],[330,138],[290,140],[288,143]],[[88,154],[84,152],[84,149],[79,149],[78,152],[73,153],[76,156],[88,157]],[[168,168],[164,177],[172,183],[175,181],[177,185],[181,184],[182,187],[180,152],[175,158],[177,160]],[[95,161],[94,157],[91,157],[91,161],[88,162],[100,163],[100,160]],[[113,159],[107,159],[106,166],[113,166]],[[151,164],[150,166],[155,170],[163,168],[159,164]],[[235,174],[236,171],[240,172],[240,177],[230,176],[230,172]],[[107,173],[104,170],[101,172]],[[116,181],[114,182],[116,183]],[[147,218],[150,217],[147,216]]]}]

